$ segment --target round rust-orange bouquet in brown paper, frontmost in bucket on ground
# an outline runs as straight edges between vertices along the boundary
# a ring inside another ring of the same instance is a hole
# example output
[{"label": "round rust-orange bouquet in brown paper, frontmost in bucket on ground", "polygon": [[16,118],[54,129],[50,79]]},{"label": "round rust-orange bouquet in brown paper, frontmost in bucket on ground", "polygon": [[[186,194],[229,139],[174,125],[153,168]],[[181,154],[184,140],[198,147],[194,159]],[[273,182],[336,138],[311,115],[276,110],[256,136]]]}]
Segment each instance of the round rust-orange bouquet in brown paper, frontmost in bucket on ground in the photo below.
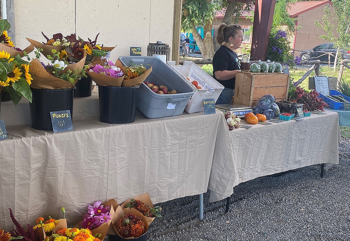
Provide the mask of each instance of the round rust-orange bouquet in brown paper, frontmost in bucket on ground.
[{"label": "round rust-orange bouquet in brown paper, frontmost in bucket on ground", "polygon": [[[116,234],[123,239],[139,238],[148,232],[148,223],[145,216],[136,209],[123,209],[118,206],[112,224]],[[109,235],[111,241],[113,241],[113,238],[113,235]]]}]

